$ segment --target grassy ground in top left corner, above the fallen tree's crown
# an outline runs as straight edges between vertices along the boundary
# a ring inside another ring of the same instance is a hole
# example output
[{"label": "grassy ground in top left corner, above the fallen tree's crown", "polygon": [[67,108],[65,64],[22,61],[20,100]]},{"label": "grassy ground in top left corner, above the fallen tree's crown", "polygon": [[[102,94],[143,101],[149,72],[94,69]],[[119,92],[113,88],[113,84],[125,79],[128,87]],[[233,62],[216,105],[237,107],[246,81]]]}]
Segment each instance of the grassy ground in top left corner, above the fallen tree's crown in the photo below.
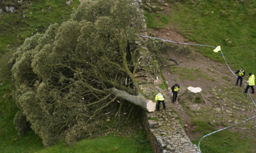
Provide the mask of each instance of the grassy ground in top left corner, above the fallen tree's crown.
[{"label": "grassy ground in top left corner, above the fallen tree's crown", "polygon": [[[31,3],[31,5],[30,5]],[[35,0],[28,3],[13,3],[6,0],[4,5],[16,7],[16,13],[0,14],[0,54],[4,54],[7,48],[18,47],[23,44],[31,32],[44,33],[51,23],[62,23],[70,18],[73,7],[80,4],[74,0],[66,5],[66,1]],[[5,7],[2,6],[5,11]],[[23,18],[25,15],[25,18]],[[7,47],[7,45],[10,45]]]}]

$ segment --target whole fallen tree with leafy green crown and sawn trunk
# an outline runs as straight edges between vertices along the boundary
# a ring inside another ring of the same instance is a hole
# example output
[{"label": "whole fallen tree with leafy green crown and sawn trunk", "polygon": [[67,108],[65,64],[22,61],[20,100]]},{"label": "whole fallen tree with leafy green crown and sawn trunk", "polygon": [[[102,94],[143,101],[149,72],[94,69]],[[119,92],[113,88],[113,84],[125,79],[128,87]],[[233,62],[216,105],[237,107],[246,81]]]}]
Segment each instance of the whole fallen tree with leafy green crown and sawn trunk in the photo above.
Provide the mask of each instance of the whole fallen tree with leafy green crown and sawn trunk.
[{"label": "whole fallen tree with leafy green crown and sawn trunk", "polygon": [[[20,108],[16,118],[23,118],[15,120],[19,135],[28,121],[45,147],[60,139],[70,145],[85,137],[77,133],[98,132],[100,123],[92,119],[116,100],[153,112],[156,103],[135,79],[138,50],[127,56],[142,19],[133,0],[86,1],[69,21],[27,38],[10,60]],[[132,83],[124,86],[127,78]]]}]

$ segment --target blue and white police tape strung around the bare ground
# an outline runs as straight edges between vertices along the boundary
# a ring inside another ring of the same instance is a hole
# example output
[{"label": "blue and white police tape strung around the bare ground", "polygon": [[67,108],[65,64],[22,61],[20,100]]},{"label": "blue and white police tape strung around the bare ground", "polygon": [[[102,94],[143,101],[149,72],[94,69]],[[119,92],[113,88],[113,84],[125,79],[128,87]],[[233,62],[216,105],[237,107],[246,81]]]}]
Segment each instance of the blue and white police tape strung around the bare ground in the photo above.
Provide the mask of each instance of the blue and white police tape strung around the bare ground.
[{"label": "blue and white police tape strung around the bare ground", "polygon": [[[172,42],[172,43],[177,43],[177,44],[184,44],[184,45],[195,45],[195,46],[204,46],[204,47],[214,47],[215,48],[215,46],[207,46],[207,45],[197,45],[197,44],[187,44],[187,43],[179,43],[179,42],[176,42],[176,41],[171,41],[171,40],[165,40],[165,39],[160,39],[160,38],[154,38],[154,37],[149,37],[149,36],[143,36],[143,35],[141,35],[142,37],[147,37],[147,38],[152,38],[152,39],[158,39],[158,40],[163,40],[163,41],[169,41],[169,42]],[[227,63],[227,61],[226,61],[226,59],[225,59],[225,57],[224,57],[224,55],[223,55],[223,53],[222,53],[222,51],[220,50],[220,52],[221,52],[221,54],[222,54],[222,56],[223,56],[223,58],[224,58],[224,61],[226,62],[226,64],[227,64],[227,66],[228,66],[228,63]],[[235,73],[230,69],[230,67],[228,66],[228,69],[235,75]],[[236,75],[235,75],[236,76]],[[237,76],[236,76],[236,78],[237,78]],[[243,82],[243,84],[246,86],[246,84]],[[249,92],[249,91],[248,91]],[[252,99],[252,97],[251,97],[251,94],[250,94],[250,92],[249,92],[249,96],[250,96],[250,98],[251,98],[251,100],[252,100],[252,103],[254,104],[254,106],[256,107],[256,105],[255,105],[255,103],[254,103],[254,101],[253,101],[253,99]],[[248,121],[248,120],[251,120],[252,118],[254,118],[254,117],[256,117],[256,116],[253,116],[253,117],[251,117],[251,118],[248,118],[247,120],[244,120],[244,121],[242,121],[242,122],[239,122],[239,123],[237,123],[237,124],[241,124],[241,123],[243,123],[243,122],[245,122],[245,121]],[[231,125],[231,126],[235,126],[235,125],[237,125],[237,124],[234,124],[234,125]],[[199,149],[199,151],[201,152],[201,150],[200,150],[200,142],[201,142],[201,140],[203,139],[203,138],[205,138],[205,137],[207,137],[208,135],[211,135],[211,134],[213,134],[213,133],[216,133],[216,132],[219,132],[219,131],[222,131],[222,130],[225,130],[225,129],[228,129],[228,128],[230,128],[231,126],[228,126],[227,128],[223,128],[223,129],[220,129],[220,130],[217,130],[217,131],[214,131],[214,132],[212,132],[212,133],[209,133],[209,134],[207,134],[207,135],[204,135],[204,137],[202,137],[200,140],[199,140],[199,143],[198,143],[198,149]]]}]

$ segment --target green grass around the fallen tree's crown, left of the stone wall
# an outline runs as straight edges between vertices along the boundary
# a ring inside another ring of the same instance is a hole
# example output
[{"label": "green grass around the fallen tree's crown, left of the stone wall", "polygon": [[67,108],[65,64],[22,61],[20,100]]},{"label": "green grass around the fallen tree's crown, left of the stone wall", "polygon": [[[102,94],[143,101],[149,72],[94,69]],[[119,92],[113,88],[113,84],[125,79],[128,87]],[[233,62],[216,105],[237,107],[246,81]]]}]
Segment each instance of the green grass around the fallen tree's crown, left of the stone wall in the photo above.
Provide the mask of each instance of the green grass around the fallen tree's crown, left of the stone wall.
[{"label": "green grass around the fallen tree's crown, left of the stone wall", "polygon": [[[9,4],[9,1],[7,3]],[[23,3],[20,8],[25,6],[27,8],[17,14],[0,14],[0,57],[7,52],[7,45],[10,44],[8,48],[19,47],[27,37],[31,36],[31,32],[43,33],[50,23],[67,21],[72,8],[79,5],[78,0],[73,0],[70,5],[66,5],[65,1],[35,0],[32,3],[32,5]],[[51,10],[47,9],[49,6],[52,7]],[[23,11],[26,12],[25,19],[22,17]],[[3,84],[0,85],[0,152],[151,152],[143,131],[135,137],[109,135],[93,140],[84,139],[74,147],[64,146],[63,142],[60,142],[59,145],[47,149],[44,149],[42,140],[31,129],[19,138],[13,123],[18,108],[11,96],[3,98],[7,93],[11,95],[11,82],[1,80],[0,83]]]}]

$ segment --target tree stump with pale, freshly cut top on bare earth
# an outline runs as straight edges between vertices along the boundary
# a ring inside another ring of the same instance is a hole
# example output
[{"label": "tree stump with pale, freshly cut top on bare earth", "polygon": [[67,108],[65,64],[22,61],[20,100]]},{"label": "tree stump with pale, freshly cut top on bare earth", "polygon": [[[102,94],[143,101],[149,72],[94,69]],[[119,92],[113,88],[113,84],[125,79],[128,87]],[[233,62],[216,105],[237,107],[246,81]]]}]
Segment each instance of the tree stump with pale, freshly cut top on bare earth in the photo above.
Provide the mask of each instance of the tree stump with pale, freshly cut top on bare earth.
[{"label": "tree stump with pale, freshly cut top on bare earth", "polygon": [[190,100],[193,103],[205,103],[206,105],[209,104],[209,101],[204,98],[202,89],[199,87],[188,87],[187,91],[183,92],[180,96],[180,100]]}]

